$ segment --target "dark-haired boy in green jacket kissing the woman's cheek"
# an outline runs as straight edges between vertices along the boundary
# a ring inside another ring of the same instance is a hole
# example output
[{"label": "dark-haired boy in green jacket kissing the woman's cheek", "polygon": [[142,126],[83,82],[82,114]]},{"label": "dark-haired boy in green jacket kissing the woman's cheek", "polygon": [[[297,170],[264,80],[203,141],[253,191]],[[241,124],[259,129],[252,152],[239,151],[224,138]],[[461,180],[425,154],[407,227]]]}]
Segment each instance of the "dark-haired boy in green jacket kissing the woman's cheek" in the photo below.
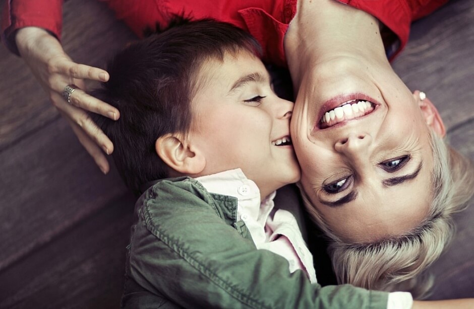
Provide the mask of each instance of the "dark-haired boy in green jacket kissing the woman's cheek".
[{"label": "dark-haired boy in green jacket kissing the woman's cheek", "polygon": [[94,95],[122,117],[97,121],[127,185],[145,191],[123,306],[387,306],[386,292],[311,284],[298,224],[272,202],[300,177],[292,103],[273,93],[258,51],[244,31],[203,20],[132,44],[110,62],[110,80]]}]

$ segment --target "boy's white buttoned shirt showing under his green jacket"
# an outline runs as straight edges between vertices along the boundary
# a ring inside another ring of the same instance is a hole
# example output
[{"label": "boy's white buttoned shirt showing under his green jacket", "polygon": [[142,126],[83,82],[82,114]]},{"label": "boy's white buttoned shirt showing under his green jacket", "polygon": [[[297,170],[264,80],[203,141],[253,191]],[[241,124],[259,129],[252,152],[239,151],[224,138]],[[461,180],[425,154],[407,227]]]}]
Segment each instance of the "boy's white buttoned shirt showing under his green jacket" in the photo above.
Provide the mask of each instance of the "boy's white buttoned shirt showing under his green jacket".
[{"label": "boy's white buttoned shirt showing under his green jacket", "polygon": [[274,208],[276,192],[260,202],[260,190],[241,169],[196,178],[210,193],[237,199],[236,220],[244,221],[257,249],[269,250],[284,257],[289,271],[302,269],[312,283],[316,281],[313,256],[308,250],[294,216]]}]

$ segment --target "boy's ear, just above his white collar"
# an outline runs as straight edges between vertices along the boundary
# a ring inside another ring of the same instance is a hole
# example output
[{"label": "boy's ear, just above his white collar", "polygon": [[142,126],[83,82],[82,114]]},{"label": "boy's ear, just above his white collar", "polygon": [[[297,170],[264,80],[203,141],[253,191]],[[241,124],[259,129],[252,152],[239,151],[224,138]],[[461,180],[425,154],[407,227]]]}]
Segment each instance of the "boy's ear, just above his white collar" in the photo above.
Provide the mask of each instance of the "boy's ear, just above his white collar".
[{"label": "boy's ear, just above his white collar", "polygon": [[206,166],[205,157],[185,137],[165,134],[156,140],[155,150],[166,165],[182,174],[199,174]]}]

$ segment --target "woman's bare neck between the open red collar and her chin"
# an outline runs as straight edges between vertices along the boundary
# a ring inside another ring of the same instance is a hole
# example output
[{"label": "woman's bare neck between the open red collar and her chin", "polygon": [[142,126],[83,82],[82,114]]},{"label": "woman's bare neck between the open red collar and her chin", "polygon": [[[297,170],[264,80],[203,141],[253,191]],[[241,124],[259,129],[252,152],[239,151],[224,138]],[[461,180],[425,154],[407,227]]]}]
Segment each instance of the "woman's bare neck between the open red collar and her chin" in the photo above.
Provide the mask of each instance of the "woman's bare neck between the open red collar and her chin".
[{"label": "woman's bare neck between the open red collar and her chin", "polygon": [[284,47],[295,93],[304,74],[330,69],[334,61],[364,69],[389,65],[379,21],[335,0],[299,0]]}]

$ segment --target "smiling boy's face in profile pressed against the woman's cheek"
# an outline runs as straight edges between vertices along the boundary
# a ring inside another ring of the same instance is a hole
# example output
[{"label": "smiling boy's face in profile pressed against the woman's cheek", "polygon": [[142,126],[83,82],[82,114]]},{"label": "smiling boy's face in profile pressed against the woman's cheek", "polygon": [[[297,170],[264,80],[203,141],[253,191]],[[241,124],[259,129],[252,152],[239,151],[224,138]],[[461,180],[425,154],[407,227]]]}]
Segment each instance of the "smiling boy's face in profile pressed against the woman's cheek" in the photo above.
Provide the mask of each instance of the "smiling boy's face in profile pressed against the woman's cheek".
[{"label": "smiling boy's face in profile pressed against the woman's cheek", "polygon": [[203,175],[241,168],[262,198],[300,179],[289,133],[293,103],[275,95],[259,58],[226,53],[206,61],[197,80],[189,138],[204,152]]}]

